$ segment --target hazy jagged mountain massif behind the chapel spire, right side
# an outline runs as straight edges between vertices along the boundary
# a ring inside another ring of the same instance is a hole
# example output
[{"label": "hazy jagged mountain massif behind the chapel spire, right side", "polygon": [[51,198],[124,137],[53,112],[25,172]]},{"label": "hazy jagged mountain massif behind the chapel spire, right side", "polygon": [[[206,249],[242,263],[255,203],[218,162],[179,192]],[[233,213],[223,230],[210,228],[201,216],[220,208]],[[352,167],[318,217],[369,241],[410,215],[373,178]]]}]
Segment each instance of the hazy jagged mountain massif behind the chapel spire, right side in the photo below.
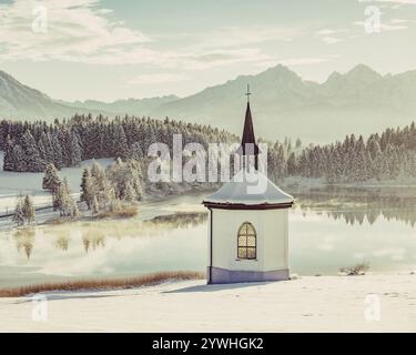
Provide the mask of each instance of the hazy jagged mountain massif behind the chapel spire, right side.
[{"label": "hazy jagged mountain massif behind the chapel spire, right side", "polygon": [[367,134],[415,119],[416,71],[381,75],[359,64],[323,83],[304,81],[277,65],[160,106],[154,115],[210,123],[240,133],[250,83],[256,134],[328,142],[346,133]]}]

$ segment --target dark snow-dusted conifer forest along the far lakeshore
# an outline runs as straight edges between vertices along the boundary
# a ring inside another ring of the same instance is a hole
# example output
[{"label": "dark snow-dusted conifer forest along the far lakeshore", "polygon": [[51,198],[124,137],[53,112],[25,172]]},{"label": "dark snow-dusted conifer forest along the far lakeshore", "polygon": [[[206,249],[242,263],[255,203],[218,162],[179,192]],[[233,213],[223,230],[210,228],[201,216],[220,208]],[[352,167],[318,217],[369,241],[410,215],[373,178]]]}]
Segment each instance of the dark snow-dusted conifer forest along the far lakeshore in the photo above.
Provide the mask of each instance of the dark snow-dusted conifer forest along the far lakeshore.
[{"label": "dark snow-dusted conifer forest along the far lakeshore", "polygon": [[[43,172],[48,164],[59,170],[99,158],[145,164],[151,143],[165,143],[172,150],[172,136],[179,133],[183,144],[194,142],[204,148],[209,143],[239,141],[236,135],[210,125],[168,118],[125,115],[110,120],[102,115],[77,114],[52,124],[2,120],[0,149],[4,151],[4,171]],[[415,123],[389,128],[367,139],[351,134],[332,144],[303,146],[298,139],[294,144],[290,139],[266,143],[267,173],[274,182],[283,182],[287,176],[324,179],[329,184],[416,178]]]}]

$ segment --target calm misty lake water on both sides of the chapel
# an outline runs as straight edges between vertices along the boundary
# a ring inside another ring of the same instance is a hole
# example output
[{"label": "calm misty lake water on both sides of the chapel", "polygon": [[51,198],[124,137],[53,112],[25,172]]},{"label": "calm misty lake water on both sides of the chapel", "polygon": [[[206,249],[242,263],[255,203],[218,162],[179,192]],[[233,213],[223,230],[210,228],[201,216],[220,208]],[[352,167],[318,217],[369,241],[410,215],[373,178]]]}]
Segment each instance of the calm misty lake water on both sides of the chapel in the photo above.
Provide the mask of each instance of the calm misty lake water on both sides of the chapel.
[{"label": "calm misty lake water on both sides of the chapel", "polygon": [[[416,190],[290,190],[290,266],[336,274],[368,262],[373,272],[416,270]],[[0,233],[0,287],[166,270],[204,271],[203,195],[142,205],[136,217]]]}]

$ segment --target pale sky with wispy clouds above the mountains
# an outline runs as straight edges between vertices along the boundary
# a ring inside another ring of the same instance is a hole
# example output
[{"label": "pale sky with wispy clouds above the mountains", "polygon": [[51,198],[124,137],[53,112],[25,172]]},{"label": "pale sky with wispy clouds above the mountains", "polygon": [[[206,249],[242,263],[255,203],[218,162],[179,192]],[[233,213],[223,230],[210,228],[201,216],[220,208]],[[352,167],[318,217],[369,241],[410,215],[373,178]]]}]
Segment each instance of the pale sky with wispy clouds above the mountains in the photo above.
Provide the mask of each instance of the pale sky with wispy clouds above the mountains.
[{"label": "pale sky with wispy clouds above the mountains", "polygon": [[53,99],[180,97],[278,63],[416,70],[416,0],[0,0],[0,70]]}]

